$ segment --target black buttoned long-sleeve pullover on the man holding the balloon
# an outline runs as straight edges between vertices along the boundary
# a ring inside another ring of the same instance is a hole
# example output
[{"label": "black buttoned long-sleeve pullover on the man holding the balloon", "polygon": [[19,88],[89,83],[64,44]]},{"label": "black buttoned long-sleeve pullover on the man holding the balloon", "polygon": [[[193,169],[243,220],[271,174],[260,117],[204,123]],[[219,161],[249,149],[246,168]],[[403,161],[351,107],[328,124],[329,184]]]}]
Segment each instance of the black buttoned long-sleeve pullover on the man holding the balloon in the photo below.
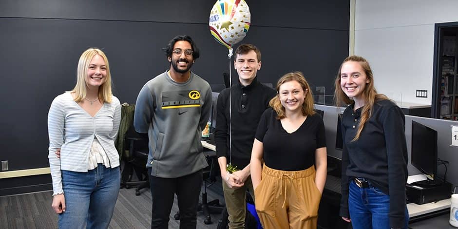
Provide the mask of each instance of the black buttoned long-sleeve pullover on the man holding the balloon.
[{"label": "black buttoned long-sleeve pullover on the man holding the balloon", "polygon": [[229,164],[229,125],[231,125],[231,163],[242,170],[249,164],[259,119],[276,92],[259,82],[256,76],[247,86],[243,86],[240,82],[232,85],[230,94],[232,104],[230,121],[229,88],[219,94],[216,103],[216,156],[226,157]]}]

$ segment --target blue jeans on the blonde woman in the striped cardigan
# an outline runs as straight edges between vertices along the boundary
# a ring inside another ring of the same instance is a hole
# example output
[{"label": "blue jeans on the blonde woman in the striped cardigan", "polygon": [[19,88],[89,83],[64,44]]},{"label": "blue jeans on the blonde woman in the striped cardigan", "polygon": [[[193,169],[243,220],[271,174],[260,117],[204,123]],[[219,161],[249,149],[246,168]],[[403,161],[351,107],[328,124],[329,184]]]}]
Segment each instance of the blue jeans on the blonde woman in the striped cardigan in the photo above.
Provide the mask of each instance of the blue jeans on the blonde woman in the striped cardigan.
[{"label": "blue jeans on the blonde woman in the striped cardigan", "polygon": [[66,210],[59,214],[59,229],[108,228],[119,193],[119,167],[98,164],[88,172],[63,170],[62,186]]}]

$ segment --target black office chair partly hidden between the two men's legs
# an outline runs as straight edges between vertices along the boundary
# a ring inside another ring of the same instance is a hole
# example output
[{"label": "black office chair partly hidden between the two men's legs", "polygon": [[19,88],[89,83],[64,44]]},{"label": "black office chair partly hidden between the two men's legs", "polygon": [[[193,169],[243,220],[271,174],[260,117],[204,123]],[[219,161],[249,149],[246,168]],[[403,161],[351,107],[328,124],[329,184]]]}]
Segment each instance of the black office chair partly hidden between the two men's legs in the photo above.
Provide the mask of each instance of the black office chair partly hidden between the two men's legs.
[{"label": "black office chair partly hidden between the two men's legs", "polygon": [[[225,209],[225,206],[221,205],[218,199],[214,199],[212,201],[208,201],[207,199],[207,187],[210,187],[216,182],[216,177],[220,174],[220,170],[216,161],[216,152],[204,151],[204,155],[210,163],[202,173],[202,203],[199,203],[197,210],[202,211],[202,214],[205,216],[204,223],[211,224],[210,214],[220,214]],[[179,220],[180,211],[177,211],[173,218]]]}]

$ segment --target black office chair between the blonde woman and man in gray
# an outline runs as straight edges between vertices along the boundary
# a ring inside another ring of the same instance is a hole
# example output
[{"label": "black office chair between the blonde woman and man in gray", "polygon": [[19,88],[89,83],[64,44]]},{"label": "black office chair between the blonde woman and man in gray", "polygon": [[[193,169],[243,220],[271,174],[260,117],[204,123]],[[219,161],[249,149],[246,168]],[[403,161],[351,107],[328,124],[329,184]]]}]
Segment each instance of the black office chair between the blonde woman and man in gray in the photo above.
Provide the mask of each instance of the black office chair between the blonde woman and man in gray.
[{"label": "black office chair between the blonde woman and man in gray", "polygon": [[[131,126],[127,132],[126,145],[129,149],[128,156],[123,158],[124,167],[121,172],[121,189],[135,187],[135,195],[140,195],[141,190],[150,187],[150,179],[146,163],[148,161],[148,139],[136,133]],[[133,173],[138,180],[133,181]]]}]

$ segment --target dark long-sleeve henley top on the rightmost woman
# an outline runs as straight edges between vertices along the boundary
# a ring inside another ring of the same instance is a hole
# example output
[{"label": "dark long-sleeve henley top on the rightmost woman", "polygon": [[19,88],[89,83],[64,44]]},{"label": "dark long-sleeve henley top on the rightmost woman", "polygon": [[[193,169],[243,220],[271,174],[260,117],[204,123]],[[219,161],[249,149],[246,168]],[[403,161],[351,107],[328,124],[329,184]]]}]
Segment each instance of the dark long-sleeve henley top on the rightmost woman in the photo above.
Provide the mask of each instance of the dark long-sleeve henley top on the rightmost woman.
[{"label": "dark long-sleeve henley top on the rightmost woman", "polygon": [[358,131],[363,108],[353,111],[348,106],[342,118],[342,200],[340,215],[349,217],[348,184],[362,177],[390,196],[389,221],[391,228],[402,228],[406,208],[407,146],[405,116],[401,108],[390,100],[376,101],[360,138],[352,142]]}]

